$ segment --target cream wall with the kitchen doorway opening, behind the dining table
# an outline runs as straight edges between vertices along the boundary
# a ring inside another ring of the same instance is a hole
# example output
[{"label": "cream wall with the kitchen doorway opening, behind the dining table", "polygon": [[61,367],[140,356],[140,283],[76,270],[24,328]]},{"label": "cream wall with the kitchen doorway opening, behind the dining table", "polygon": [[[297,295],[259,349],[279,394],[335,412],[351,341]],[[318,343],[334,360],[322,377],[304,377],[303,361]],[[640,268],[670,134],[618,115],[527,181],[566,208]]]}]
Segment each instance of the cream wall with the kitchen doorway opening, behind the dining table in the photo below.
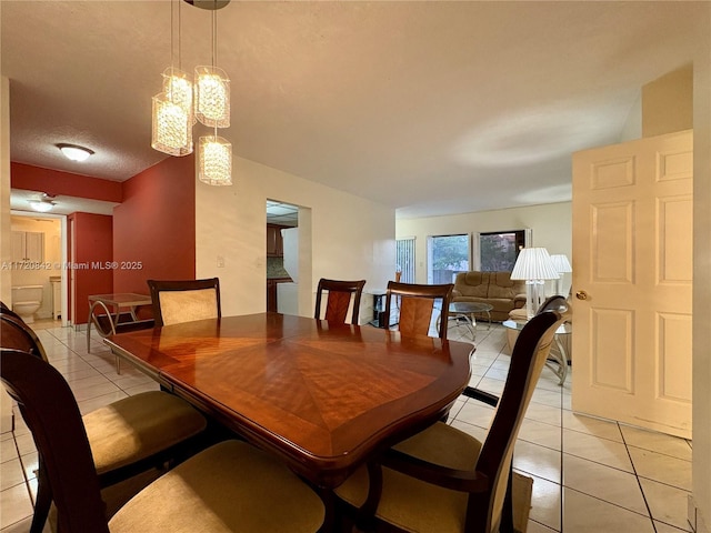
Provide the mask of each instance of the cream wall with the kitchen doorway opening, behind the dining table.
[{"label": "cream wall with the kitchen doorway opening, behind the dining table", "polygon": [[308,208],[299,219],[299,314],[313,315],[320,278],[364,279],[365,290],[393,278],[393,209],[246,159],[232,165],[232,187],[196,190],[196,273],[220,278],[222,314],[267,309],[267,199]]}]

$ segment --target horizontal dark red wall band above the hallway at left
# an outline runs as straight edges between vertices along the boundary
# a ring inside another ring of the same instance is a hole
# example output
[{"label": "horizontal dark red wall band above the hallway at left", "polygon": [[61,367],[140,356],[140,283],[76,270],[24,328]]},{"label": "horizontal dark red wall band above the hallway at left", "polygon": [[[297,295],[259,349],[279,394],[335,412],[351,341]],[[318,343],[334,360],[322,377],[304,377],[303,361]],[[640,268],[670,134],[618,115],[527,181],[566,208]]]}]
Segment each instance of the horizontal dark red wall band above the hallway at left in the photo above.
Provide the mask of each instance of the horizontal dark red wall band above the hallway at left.
[{"label": "horizontal dark red wall band above the hallway at left", "polygon": [[121,182],[10,162],[10,185],[64,197],[121,202]]}]

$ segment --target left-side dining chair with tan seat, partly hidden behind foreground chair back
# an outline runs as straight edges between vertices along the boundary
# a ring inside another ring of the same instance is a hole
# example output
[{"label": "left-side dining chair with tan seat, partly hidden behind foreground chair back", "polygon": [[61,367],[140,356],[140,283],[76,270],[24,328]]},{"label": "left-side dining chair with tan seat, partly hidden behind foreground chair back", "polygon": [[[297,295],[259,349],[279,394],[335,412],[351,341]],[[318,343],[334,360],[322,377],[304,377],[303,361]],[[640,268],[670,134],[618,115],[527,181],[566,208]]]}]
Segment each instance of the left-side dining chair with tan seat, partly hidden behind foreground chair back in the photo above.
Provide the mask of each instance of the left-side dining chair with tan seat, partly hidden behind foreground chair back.
[{"label": "left-side dining chair with tan seat, partly hidden behind foreground chair back", "polygon": [[[0,344],[31,354],[49,364],[34,331],[0,314]],[[49,394],[49,392],[48,392]],[[99,486],[108,487],[152,469],[162,470],[204,447],[207,421],[184,400],[161,391],[147,391],[118,400],[82,416]],[[31,533],[40,533],[56,496],[40,453],[38,489]]]}]

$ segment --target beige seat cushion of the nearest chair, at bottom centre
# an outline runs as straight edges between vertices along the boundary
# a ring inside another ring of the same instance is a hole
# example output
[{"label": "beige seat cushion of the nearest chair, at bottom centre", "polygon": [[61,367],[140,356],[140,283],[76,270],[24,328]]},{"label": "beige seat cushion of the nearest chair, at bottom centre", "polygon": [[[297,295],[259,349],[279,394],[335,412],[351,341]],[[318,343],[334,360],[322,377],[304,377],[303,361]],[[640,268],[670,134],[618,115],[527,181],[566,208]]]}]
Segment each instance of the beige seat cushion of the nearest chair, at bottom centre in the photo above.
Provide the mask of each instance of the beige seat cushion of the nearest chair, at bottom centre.
[{"label": "beige seat cushion of the nearest chair, at bottom centre", "polygon": [[111,533],[316,532],[319,496],[283,464],[224,441],[171,470],[109,522]]}]

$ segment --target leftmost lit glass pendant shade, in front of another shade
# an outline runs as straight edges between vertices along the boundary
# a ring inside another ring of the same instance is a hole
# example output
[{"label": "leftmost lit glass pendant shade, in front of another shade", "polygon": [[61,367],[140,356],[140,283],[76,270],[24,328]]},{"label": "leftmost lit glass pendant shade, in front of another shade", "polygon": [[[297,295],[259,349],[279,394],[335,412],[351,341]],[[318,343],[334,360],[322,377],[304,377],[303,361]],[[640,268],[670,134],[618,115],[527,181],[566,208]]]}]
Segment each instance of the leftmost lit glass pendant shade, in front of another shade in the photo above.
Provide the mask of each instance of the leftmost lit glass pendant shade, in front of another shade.
[{"label": "leftmost lit glass pendant shade, in front of another shade", "polygon": [[169,155],[192,153],[192,119],[164,92],[153,97],[151,147]]}]

